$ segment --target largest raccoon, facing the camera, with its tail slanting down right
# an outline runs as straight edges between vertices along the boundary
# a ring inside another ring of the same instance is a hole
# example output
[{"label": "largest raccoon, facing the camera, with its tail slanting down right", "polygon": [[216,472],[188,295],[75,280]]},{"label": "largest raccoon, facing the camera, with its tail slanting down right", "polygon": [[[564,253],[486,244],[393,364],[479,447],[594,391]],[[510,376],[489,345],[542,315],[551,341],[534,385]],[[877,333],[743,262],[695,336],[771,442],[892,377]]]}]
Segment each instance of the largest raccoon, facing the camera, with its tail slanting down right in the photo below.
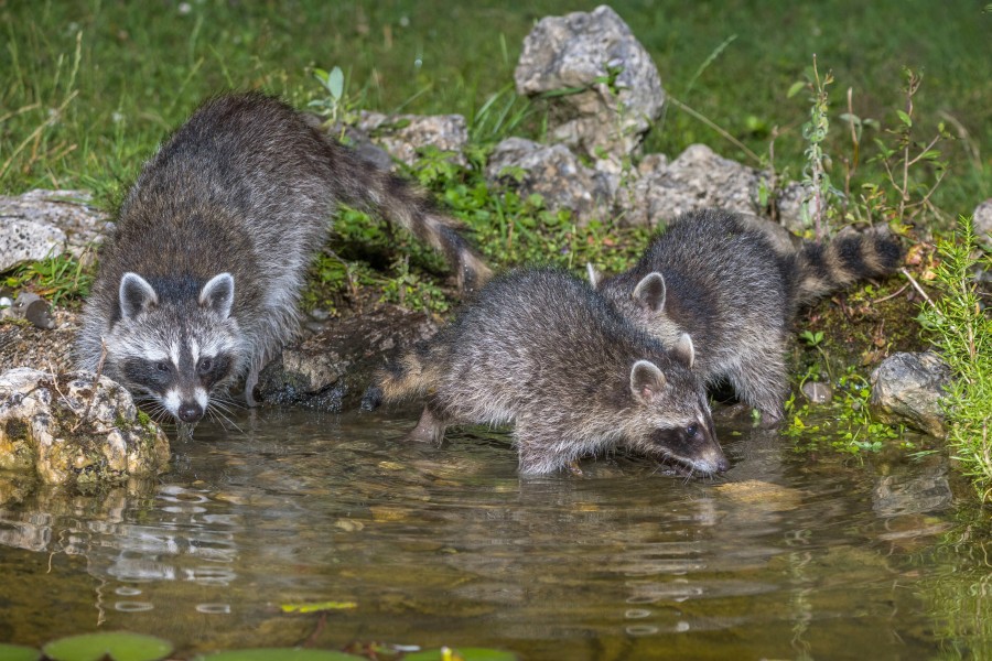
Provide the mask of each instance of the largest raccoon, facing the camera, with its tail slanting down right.
[{"label": "largest raccoon, facing the camera, with its tail slanting down right", "polygon": [[211,394],[259,370],[299,326],[311,258],[338,202],[379,208],[444,252],[463,291],[488,269],[459,234],[391,174],[261,94],[205,102],[129,191],[76,340],[80,368],[186,423]]}]

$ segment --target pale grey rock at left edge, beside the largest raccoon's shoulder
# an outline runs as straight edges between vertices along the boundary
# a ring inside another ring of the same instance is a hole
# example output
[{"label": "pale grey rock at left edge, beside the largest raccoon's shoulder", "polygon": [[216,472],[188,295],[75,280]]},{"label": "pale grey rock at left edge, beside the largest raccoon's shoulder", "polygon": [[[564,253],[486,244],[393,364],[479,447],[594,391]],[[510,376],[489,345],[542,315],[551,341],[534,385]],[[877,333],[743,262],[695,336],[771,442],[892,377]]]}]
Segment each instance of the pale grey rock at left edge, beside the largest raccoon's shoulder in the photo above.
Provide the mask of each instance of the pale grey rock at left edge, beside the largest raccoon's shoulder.
[{"label": "pale grey rock at left edge, beside the largest raccoon's shoulder", "polygon": [[103,240],[110,224],[88,201],[82,191],[0,195],[0,271],[63,252],[91,259],[89,248]]}]

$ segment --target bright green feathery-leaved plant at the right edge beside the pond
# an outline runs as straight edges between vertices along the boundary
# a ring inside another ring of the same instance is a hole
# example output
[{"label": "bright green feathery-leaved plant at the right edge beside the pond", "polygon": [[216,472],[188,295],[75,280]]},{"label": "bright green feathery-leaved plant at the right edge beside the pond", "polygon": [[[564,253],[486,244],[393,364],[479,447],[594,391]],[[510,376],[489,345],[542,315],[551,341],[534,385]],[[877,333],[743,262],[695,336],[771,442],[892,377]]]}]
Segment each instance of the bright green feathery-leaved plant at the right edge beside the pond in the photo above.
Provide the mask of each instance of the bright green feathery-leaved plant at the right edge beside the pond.
[{"label": "bright green feathery-leaved plant at the right edge beside the pond", "polygon": [[934,284],[940,296],[919,316],[924,332],[951,371],[942,400],[948,445],[983,501],[992,499],[992,321],[982,310],[975,267],[992,267],[975,243],[972,218],[961,216],[955,239],[940,241]]}]

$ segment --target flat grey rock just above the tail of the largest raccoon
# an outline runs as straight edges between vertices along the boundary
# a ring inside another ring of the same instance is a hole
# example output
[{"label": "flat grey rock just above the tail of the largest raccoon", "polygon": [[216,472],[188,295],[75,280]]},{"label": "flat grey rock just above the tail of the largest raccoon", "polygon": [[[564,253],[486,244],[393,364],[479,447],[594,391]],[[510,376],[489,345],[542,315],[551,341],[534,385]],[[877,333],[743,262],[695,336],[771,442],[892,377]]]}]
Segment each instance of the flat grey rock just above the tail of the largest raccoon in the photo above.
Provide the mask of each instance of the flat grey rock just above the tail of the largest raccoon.
[{"label": "flat grey rock just above the tail of the largest raccoon", "polygon": [[461,115],[382,115],[363,110],[357,128],[407,165],[417,161],[417,150],[424,147],[452,152],[452,162],[467,164],[463,152],[468,143],[468,127]]}]

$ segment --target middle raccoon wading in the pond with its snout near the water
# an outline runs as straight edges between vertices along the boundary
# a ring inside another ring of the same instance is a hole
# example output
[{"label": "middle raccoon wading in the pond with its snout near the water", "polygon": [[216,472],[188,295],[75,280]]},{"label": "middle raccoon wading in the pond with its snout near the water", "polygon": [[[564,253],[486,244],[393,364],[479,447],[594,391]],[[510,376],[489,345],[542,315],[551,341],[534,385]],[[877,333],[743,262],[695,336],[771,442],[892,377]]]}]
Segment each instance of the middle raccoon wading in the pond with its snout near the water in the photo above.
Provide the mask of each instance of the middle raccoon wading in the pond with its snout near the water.
[{"label": "middle raccoon wading in the pond with its snout near the water", "polygon": [[434,338],[377,376],[376,397],[427,397],[411,437],[515,423],[520,472],[550,473],[624,444],[704,474],[725,470],[692,340],[666,351],[585,283],[521,270],[487,284]]}]

